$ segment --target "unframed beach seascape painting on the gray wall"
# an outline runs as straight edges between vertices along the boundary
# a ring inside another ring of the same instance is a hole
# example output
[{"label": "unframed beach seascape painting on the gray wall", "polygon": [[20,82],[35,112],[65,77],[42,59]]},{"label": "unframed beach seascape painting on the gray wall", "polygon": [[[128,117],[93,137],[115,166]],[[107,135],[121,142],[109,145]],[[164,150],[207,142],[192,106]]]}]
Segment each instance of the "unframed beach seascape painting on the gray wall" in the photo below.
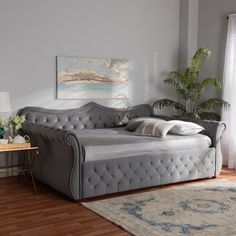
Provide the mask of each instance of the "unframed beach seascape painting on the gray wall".
[{"label": "unframed beach seascape painting on the gray wall", "polygon": [[57,57],[58,99],[124,99],[128,60]]}]

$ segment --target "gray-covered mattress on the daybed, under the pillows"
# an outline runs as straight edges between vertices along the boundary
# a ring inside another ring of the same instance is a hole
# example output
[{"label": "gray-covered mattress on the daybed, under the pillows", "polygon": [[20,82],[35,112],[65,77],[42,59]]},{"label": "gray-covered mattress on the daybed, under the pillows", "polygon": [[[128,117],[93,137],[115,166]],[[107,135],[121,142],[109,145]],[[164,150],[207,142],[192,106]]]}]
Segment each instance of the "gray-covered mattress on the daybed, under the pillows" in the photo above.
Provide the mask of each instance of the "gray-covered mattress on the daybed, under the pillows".
[{"label": "gray-covered mattress on the daybed, under the pillows", "polygon": [[125,128],[86,129],[76,132],[84,151],[84,161],[125,158],[158,152],[206,149],[211,139],[202,134],[180,136],[167,134],[164,138],[136,136]]}]

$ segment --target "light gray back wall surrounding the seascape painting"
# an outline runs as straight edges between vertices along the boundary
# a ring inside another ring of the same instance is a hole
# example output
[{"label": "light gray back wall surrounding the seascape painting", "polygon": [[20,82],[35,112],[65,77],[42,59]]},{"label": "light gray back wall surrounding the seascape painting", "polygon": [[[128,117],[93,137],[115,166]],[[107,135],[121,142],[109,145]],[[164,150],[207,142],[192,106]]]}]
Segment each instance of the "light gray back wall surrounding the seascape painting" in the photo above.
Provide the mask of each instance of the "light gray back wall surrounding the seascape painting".
[{"label": "light gray back wall surrounding the seascape painting", "polygon": [[13,110],[87,103],[55,99],[60,55],[129,59],[128,104],[166,97],[162,80],[178,64],[179,5],[179,0],[0,0],[0,91],[10,92]]}]

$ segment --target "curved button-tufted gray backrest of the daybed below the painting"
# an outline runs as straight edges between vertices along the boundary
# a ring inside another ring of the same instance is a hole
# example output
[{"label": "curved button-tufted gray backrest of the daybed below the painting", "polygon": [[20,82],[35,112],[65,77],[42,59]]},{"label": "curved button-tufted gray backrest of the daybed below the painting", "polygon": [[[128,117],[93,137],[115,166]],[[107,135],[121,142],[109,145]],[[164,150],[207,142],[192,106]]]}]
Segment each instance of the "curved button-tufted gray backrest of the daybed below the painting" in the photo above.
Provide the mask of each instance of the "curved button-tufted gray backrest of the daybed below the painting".
[{"label": "curved button-tufted gray backrest of the daybed below the painting", "polygon": [[68,110],[25,107],[19,111],[19,114],[26,116],[26,122],[59,129],[78,130],[125,125],[130,119],[152,116],[153,109],[147,104],[118,109],[91,102],[80,108]]}]

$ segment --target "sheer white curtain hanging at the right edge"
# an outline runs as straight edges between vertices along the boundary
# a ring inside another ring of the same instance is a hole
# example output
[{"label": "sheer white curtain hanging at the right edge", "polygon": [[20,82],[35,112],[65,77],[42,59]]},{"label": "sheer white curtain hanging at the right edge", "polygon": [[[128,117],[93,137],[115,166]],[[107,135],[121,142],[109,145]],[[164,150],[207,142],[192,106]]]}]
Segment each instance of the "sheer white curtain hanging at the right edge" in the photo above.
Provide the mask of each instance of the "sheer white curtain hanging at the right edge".
[{"label": "sheer white curtain hanging at the right edge", "polygon": [[236,14],[228,19],[228,33],[223,74],[223,99],[230,109],[222,111],[222,120],[227,128],[223,137],[223,155],[228,158],[228,167],[236,169]]}]

